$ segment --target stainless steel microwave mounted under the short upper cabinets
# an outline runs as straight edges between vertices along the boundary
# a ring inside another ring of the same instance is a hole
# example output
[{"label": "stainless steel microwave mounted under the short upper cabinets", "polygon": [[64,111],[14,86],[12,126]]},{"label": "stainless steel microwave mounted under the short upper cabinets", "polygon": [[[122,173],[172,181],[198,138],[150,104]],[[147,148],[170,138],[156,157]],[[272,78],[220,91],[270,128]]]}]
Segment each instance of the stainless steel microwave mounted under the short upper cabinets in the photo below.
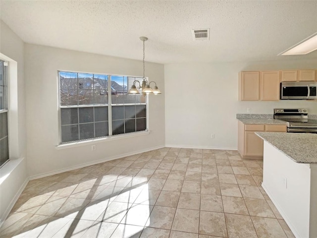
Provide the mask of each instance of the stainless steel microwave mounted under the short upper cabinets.
[{"label": "stainless steel microwave mounted under the short upper cabinets", "polygon": [[317,82],[282,82],[281,99],[317,99]]}]

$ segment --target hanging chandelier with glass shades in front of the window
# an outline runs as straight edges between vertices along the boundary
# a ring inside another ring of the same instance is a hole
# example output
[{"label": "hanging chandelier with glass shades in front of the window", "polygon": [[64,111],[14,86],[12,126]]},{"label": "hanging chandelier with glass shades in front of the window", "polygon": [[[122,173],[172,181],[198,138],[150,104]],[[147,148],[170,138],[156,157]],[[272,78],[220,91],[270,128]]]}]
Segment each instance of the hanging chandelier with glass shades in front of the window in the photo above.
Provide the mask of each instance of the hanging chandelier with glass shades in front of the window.
[{"label": "hanging chandelier with glass shades in front of the window", "polygon": [[[145,94],[161,94],[161,92],[159,91],[159,88],[157,86],[157,83],[152,81],[152,82],[149,82],[146,77],[145,77],[145,48],[144,48],[144,43],[148,40],[147,37],[145,36],[141,36],[140,37],[140,40],[143,41],[143,81],[142,81],[142,84],[140,83],[139,80],[134,80],[133,81],[133,85],[131,86],[131,88],[129,89],[128,93],[129,94],[139,94],[139,90],[138,89],[141,89],[142,88],[142,93],[145,95]],[[135,83],[138,82],[139,83],[139,87],[136,87],[135,86]],[[155,86],[154,86],[154,89],[152,89],[150,87],[150,84],[151,83],[155,83]]]}]

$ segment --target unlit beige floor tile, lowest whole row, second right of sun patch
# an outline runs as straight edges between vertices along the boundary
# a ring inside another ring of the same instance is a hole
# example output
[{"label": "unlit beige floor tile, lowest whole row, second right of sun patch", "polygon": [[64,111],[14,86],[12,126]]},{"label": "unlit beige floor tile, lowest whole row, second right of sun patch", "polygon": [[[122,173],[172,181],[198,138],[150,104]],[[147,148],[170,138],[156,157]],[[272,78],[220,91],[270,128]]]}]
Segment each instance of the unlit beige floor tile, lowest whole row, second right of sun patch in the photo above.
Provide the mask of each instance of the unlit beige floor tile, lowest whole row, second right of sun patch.
[{"label": "unlit beige floor tile, lowest whole row, second right of sun patch", "polygon": [[199,232],[199,211],[177,208],[172,230],[180,232]]}]

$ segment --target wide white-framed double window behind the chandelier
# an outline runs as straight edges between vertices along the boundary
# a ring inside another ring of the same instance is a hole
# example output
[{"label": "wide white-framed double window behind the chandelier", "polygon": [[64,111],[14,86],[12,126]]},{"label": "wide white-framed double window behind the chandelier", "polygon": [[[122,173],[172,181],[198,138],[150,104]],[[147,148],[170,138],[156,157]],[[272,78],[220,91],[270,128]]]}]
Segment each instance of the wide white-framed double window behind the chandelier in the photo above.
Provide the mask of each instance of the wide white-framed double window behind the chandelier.
[{"label": "wide white-framed double window behind the chandelier", "polygon": [[61,143],[146,130],[146,98],[127,94],[140,78],[63,71],[58,75]]}]

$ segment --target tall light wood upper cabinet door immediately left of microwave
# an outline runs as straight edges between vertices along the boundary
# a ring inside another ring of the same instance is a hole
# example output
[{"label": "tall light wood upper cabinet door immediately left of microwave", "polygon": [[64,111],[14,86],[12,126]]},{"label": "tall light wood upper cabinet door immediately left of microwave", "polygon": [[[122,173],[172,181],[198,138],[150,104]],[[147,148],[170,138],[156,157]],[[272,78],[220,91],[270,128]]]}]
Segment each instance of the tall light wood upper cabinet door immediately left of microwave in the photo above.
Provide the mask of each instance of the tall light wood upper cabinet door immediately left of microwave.
[{"label": "tall light wood upper cabinet door immediately left of microwave", "polygon": [[279,100],[280,71],[261,72],[261,100]]}]

